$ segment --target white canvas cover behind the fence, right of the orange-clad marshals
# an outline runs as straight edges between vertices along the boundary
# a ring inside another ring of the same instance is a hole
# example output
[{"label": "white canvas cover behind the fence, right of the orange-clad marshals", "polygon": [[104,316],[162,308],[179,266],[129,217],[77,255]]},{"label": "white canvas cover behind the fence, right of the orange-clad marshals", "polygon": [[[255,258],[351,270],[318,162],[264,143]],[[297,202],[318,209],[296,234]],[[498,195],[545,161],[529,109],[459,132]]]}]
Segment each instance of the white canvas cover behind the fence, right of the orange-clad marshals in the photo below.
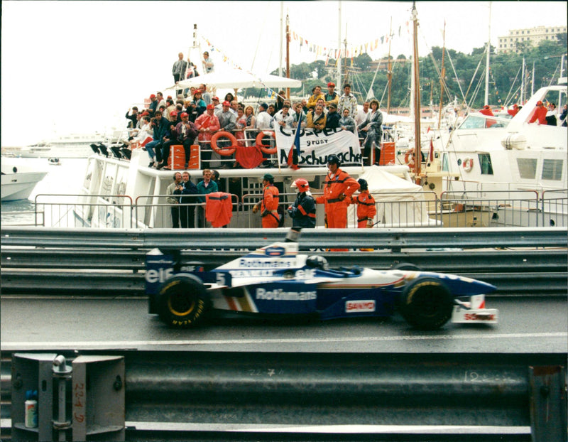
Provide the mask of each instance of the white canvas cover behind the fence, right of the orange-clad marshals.
[{"label": "white canvas cover behind the fence, right of the orange-clad marshals", "polygon": [[[378,203],[377,214],[373,219],[377,227],[435,225],[435,221],[428,217],[426,198],[420,185],[399,178],[378,166],[366,168],[357,179],[359,178],[367,181],[368,190]],[[347,219],[351,227],[356,227],[356,210],[356,205],[349,205]]]}]

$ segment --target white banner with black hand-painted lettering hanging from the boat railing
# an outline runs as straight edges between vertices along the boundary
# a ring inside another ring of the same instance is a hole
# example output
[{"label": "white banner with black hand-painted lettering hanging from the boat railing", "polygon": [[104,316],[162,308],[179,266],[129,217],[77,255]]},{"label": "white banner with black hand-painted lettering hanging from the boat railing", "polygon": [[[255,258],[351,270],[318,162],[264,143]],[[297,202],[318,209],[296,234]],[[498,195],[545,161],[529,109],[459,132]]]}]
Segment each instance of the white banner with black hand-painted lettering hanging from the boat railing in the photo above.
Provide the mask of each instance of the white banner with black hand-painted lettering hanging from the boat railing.
[{"label": "white banner with black hand-painted lettering hanging from the boat railing", "polygon": [[[280,128],[274,132],[280,165],[286,166],[295,131]],[[327,156],[332,153],[339,156],[342,164],[361,164],[362,161],[359,138],[353,132],[342,129],[300,129],[298,166],[327,166]]]}]

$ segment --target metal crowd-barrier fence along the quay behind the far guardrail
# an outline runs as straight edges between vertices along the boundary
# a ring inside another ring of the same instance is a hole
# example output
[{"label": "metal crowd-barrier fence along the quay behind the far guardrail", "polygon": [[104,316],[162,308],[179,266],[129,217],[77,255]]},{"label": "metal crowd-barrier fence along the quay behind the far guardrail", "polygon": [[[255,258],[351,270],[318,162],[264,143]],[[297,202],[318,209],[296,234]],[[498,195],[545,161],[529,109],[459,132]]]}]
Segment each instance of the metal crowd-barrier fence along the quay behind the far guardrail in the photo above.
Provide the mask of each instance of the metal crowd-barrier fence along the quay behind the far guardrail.
[{"label": "metal crowd-barrier fence along the quay behind the far guardrail", "polygon": [[[313,193],[317,198],[321,193]],[[284,226],[292,220],[285,213],[295,193],[281,193]],[[434,192],[374,193],[377,215],[373,228],[403,227],[568,227],[568,190],[469,190],[447,191],[439,198]],[[172,227],[172,205],[168,195],[59,195],[35,197],[33,225],[44,227]],[[184,195],[184,198],[200,198]],[[260,227],[261,220],[251,207],[261,193],[231,194],[232,217],[229,227]],[[209,227],[204,205],[183,203],[194,212],[195,227]],[[8,213],[3,215],[9,215]],[[348,227],[357,225],[356,205],[349,205]],[[26,223],[27,224],[27,223]],[[190,224],[191,225],[191,224]],[[324,227],[324,205],[317,205],[317,227]]]}]

